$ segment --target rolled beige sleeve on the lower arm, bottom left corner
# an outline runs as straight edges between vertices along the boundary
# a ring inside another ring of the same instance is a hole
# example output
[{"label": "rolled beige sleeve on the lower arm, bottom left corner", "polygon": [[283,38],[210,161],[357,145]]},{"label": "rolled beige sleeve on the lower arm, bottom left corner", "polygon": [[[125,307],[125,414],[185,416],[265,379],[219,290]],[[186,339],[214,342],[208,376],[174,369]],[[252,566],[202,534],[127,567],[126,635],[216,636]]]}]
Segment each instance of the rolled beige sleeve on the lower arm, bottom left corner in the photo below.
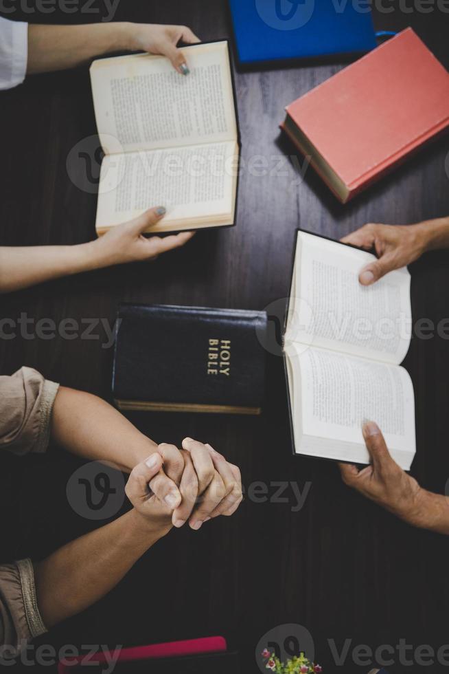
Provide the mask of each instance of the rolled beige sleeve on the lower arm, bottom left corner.
[{"label": "rolled beige sleeve on the lower arm, bottom left corner", "polygon": [[0,566],[0,650],[6,660],[45,633],[30,559]]}]

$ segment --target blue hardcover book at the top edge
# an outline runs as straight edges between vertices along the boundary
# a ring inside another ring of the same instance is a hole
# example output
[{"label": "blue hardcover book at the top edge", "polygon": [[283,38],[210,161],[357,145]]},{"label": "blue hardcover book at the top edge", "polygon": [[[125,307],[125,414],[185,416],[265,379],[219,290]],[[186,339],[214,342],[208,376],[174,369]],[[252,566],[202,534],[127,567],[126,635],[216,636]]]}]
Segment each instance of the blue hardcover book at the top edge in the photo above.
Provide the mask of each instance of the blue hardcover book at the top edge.
[{"label": "blue hardcover book at the top edge", "polygon": [[229,0],[241,65],[331,54],[360,54],[377,46],[371,10],[341,0]]}]

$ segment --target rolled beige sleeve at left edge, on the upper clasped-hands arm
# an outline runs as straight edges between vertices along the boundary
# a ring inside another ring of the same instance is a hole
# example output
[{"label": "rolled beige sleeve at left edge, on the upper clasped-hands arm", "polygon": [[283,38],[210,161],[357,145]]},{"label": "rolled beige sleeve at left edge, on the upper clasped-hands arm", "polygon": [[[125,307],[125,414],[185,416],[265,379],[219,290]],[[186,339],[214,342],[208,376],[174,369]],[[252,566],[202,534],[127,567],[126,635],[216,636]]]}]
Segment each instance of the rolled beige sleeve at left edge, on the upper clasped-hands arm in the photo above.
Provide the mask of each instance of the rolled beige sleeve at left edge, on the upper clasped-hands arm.
[{"label": "rolled beige sleeve at left edge, on the upper clasped-hands arm", "polygon": [[0,450],[45,452],[58,384],[31,367],[0,377]]}]

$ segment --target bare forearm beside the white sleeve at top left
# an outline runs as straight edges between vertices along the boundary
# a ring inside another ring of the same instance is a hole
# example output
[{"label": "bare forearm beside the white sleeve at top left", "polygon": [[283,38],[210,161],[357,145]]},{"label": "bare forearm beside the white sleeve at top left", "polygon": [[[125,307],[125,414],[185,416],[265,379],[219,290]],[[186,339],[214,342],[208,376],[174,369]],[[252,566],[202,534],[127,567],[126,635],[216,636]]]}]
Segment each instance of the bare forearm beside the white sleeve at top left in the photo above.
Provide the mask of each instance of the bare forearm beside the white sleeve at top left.
[{"label": "bare forearm beside the white sleeve at top left", "polygon": [[62,70],[87,63],[91,58],[128,50],[129,23],[88,25],[30,25],[27,73]]}]

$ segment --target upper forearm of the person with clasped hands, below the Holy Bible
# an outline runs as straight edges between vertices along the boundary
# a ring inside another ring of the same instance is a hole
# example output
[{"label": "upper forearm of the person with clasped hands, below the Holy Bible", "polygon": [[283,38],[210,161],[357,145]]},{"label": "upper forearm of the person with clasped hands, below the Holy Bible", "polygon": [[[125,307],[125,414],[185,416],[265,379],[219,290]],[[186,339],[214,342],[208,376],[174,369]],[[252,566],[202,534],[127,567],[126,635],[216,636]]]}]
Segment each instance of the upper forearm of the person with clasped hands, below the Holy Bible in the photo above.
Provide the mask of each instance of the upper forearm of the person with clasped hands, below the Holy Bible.
[{"label": "upper forearm of the person with clasped hands, below the Holy Bible", "polygon": [[157,444],[101,398],[60,387],[54,402],[51,437],[78,456],[108,461],[130,472]]}]

